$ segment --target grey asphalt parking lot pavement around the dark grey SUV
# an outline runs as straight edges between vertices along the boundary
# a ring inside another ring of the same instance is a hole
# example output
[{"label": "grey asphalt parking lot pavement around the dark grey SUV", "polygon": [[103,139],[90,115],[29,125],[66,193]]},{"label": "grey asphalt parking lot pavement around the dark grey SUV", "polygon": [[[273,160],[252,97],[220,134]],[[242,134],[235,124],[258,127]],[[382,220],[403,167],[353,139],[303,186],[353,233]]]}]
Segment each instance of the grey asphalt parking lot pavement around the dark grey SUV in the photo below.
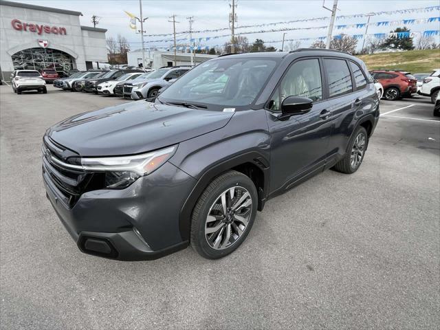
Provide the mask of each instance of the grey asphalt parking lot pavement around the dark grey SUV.
[{"label": "grey asphalt parking lot pavement around the dark grey SUV", "polygon": [[360,170],[268,201],[225,259],[188,248],[128,263],[79,252],[40,162],[47,127],[125,101],[0,93],[2,329],[439,329],[440,122],[428,98],[381,101],[382,113],[406,108],[382,115]]}]

